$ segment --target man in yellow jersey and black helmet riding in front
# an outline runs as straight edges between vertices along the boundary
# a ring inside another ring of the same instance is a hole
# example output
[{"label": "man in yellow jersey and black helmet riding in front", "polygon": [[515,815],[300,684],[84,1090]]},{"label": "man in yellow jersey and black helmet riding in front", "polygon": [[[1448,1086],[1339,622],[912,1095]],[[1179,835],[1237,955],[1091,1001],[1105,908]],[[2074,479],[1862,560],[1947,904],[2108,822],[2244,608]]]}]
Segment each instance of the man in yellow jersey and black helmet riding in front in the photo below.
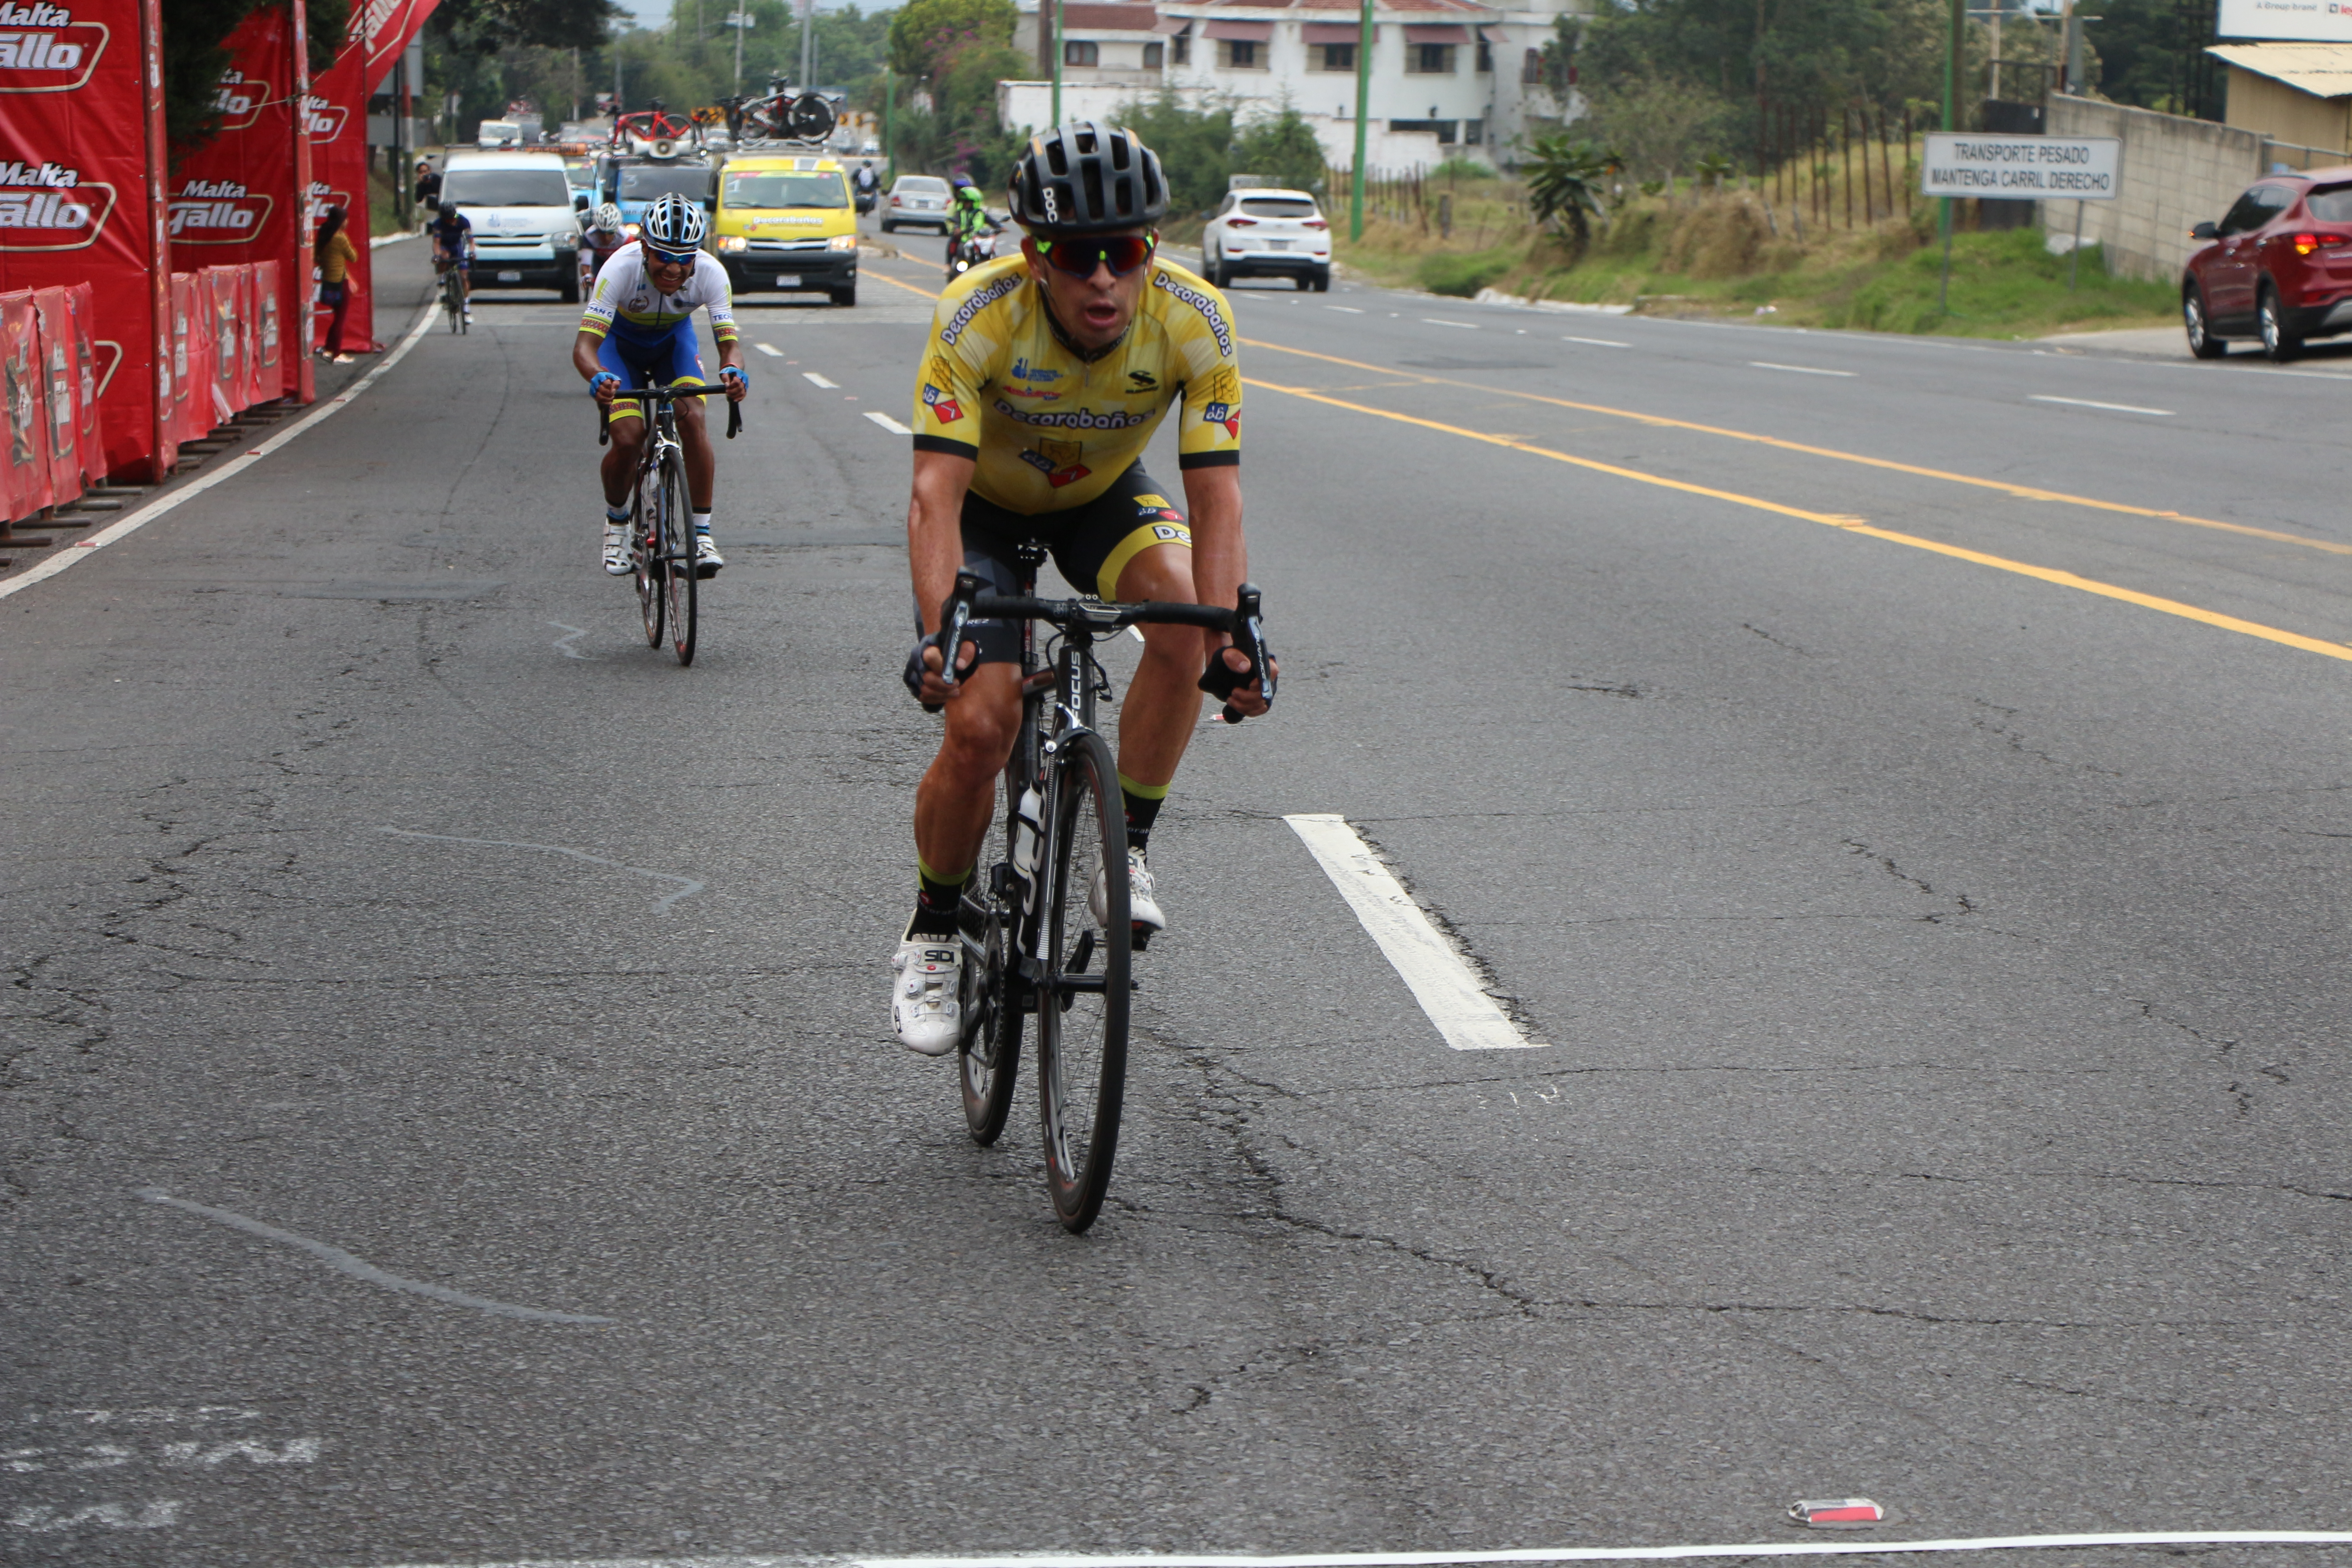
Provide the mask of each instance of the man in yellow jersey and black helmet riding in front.
[{"label": "man in yellow jersey and black helmet riding in front", "polygon": [[[1014,167],[1021,254],[964,273],[931,317],[915,378],[906,529],[920,642],[906,684],[946,708],[948,733],[915,795],[920,896],[891,966],[891,1025],[924,1056],[955,1051],[957,905],[1021,726],[1018,628],[976,621],[960,649],[938,646],[955,574],[1014,592],[1014,548],[1037,538],[1075,588],[1103,599],[1232,604],[1249,576],[1232,315],[1223,294],[1157,256],[1152,223],[1164,212],[1160,158],[1141,139],[1091,120],[1061,125],[1030,139]],[[1141,465],[1178,404],[1190,522]],[[1131,912],[1148,931],[1167,917],[1145,846],[1202,691],[1265,712],[1230,637],[1143,628],[1120,708],[1120,792]]]}]

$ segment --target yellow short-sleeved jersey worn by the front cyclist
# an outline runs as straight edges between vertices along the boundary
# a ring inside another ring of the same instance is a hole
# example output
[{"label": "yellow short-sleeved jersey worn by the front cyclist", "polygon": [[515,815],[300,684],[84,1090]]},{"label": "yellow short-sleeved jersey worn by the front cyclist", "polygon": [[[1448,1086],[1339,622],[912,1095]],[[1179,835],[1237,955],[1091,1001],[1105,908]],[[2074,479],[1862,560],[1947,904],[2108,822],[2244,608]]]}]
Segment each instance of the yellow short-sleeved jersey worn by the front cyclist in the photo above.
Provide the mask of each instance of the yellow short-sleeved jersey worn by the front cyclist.
[{"label": "yellow short-sleeved jersey worn by the front cyclist", "polygon": [[1178,395],[1176,465],[1240,463],[1242,369],[1223,294],[1150,261],[1127,336],[1087,364],[1054,336],[1028,263],[1004,256],[938,296],[915,449],[976,458],[971,489],[1009,512],[1061,512],[1110,489]]}]

